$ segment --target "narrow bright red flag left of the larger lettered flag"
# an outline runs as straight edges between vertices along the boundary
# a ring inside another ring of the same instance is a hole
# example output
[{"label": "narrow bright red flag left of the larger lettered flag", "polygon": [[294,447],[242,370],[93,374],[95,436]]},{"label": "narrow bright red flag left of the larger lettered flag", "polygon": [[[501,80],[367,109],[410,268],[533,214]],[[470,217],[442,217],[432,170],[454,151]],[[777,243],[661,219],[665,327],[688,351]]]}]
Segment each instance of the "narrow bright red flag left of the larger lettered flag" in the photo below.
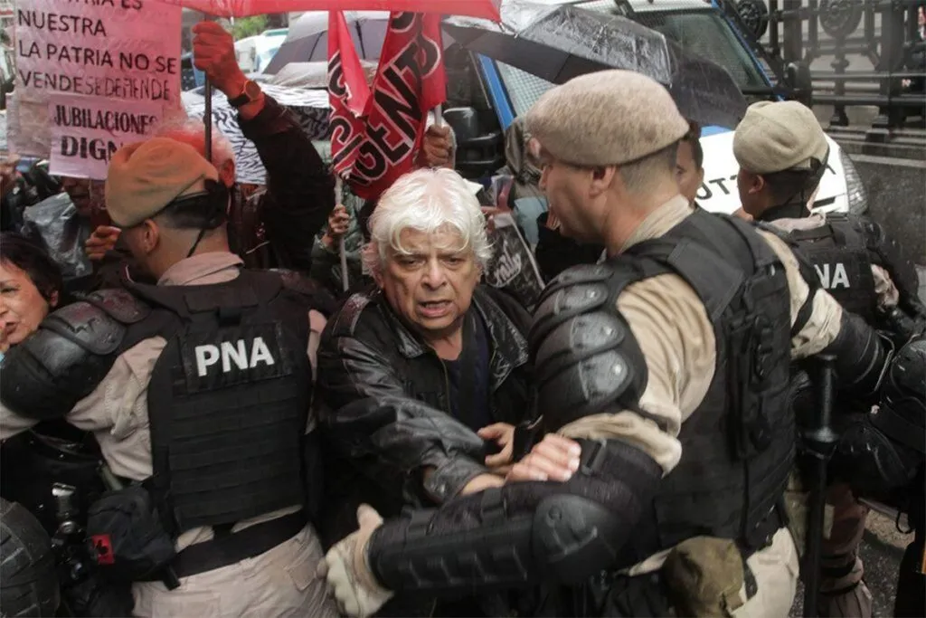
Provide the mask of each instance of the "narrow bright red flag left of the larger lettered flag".
[{"label": "narrow bright red flag left of the larger lettered flag", "polygon": [[369,86],[341,11],[328,13],[328,96],[332,102],[332,167],[344,176],[363,142],[365,127],[360,116],[367,107]]}]

